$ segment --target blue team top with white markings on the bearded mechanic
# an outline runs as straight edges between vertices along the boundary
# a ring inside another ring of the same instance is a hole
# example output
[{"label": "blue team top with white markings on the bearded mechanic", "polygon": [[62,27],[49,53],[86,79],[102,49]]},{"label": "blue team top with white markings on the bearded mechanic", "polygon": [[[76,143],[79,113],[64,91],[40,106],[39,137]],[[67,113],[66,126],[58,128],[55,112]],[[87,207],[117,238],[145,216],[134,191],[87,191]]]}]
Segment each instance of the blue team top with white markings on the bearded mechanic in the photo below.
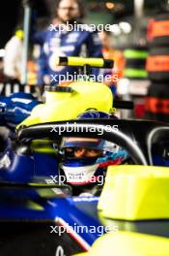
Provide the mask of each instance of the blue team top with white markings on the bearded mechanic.
[{"label": "blue team top with white markings on the bearded mechanic", "polygon": [[[90,31],[59,31],[57,27],[50,31],[45,30],[36,33],[34,42],[41,46],[39,58],[38,84],[44,83],[44,76],[50,77],[50,84],[59,83],[59,75],[78,74],[77,68],[60,67],[56,65],[58,56],[90,56],[102,57],[101,45],[97,32]],[[93,69],[96,76],[99,69]]]}]

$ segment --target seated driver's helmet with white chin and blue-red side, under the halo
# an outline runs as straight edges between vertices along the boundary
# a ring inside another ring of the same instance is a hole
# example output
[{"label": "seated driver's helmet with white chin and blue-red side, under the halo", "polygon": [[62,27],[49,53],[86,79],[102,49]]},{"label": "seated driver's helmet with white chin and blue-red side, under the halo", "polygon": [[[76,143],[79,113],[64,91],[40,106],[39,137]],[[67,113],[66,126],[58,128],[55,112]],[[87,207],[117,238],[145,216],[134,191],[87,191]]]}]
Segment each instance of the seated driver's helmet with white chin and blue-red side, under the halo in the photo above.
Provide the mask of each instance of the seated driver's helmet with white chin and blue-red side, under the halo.
[{"label": "seated driver's helmet with white chin and blue-red side, under the halo", "polygon": [[[78,119],[117,118],[105,112],[84,112]],[[107,167],[120,165],[127,151],[117,144],[94,138],[63,138],[60,145],[60,174],[74,186],[103,184]]]}]

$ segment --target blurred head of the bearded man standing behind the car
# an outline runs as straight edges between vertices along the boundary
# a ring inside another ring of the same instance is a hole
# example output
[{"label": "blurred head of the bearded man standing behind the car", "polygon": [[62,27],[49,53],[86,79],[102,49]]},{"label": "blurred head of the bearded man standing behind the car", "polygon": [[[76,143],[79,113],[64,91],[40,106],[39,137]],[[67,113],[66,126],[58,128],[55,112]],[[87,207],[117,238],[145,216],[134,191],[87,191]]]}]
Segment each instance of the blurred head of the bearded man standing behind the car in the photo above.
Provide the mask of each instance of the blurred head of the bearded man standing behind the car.
[{"label": "blurred head of the bearded man standing behind the car", "polygon": [[56,3],[57,17],[63,23],[82,17],[82,10],[79,0],[58,0]]}]

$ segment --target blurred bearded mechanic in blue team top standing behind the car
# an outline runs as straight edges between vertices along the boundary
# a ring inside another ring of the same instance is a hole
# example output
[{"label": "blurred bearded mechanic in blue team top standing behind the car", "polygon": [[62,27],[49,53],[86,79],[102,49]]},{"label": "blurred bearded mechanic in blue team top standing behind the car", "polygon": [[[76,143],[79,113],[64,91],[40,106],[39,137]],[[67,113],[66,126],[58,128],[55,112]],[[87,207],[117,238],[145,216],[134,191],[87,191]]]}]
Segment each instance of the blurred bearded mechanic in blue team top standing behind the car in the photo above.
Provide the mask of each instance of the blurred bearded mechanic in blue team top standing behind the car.
[{"label": "blurred bearded mechanic in blue team top standing behind the car", "polygon": [[[34,42],[41,46],[39,85],[43,83],[58,84],[61,74],[72,76],[78,74],[77,68],[58,67],[56,65],[57,56],[102,56],[97,32],[74,29],[74,21],[80,20],[84,16],[83,10],[80,0],[58,0],[56,2],[56,17],[52,22],[54,29],[50,29],[52,27],[50,25],[48,29],[36,33]],[[73,25],[71,31],[68,29],[67,22]],[[65,25],[64,31],[60,30],[60,25]],[[95,72],[97,73],[96,70]]]}]

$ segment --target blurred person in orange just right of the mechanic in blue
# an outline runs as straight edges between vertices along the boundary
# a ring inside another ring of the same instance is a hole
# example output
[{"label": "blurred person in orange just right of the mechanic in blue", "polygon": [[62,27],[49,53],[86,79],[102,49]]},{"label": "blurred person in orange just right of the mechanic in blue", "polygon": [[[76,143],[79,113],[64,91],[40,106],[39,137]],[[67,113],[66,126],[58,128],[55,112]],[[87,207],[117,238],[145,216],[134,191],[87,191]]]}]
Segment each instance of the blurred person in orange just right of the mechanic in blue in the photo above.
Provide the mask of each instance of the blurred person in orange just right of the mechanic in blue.
[{"label": "blurred person in orange just right of the mechanic in blue", "polygon": [[[104,82],[110,86],[113,94],[116,94],[116,84],[123,77],[124,56],[123,53],[112,47],[112,36],[109,31],[99,32],[99,38],[102,45],[102,55],[105,59],[114,60],[113,70],[104,70]],[[111,80],[106,80],[106,75],[111,75]]]}]

